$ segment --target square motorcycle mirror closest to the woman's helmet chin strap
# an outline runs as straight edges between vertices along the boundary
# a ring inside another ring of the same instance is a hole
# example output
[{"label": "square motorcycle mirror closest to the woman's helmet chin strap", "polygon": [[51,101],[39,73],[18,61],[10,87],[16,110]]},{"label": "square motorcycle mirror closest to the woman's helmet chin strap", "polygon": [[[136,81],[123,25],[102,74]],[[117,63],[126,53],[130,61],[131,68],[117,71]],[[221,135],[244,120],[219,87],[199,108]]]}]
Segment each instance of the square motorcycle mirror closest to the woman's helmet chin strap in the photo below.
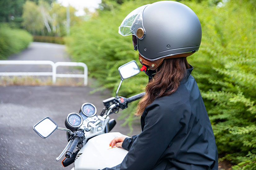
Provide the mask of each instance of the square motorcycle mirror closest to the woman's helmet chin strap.
[{"label": "square motorcycle mirror closest to the woman's helmet chin strap", "polygon": [[132,77],[136,74],[139,74],[140,69],[139,66],[137,65],[136,61],[130,61],[123,66],[120,66],[118,68],[119,74],[121,76],[121,79],[127,79],[129,77]]}]

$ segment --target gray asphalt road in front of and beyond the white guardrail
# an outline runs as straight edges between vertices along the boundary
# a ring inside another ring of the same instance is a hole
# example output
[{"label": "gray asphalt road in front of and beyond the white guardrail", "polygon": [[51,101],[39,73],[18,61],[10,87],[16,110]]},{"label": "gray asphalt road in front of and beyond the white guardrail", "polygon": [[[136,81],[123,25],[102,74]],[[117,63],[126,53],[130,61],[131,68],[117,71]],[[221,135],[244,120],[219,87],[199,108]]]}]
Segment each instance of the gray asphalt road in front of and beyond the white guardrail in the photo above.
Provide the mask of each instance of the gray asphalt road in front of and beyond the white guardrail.
[{"label": "gray asphalt road in front of and beyond the white guardrail", "polygon": [[[63,45],[34,42],[28,49],[11,56],[9,60],[70,61],[64,48]],[[43,66],[39,68],[0,66],[0,72],[6,69],[13,72],[47,70]],[[63,71],[69,70],[65,68]],[[0,87],[0,169],[71,169],[72,164],[66,168],[62,166],[63,158],[59,162],[55,160],[67,144],[66,133],[56,130],[49,138],[43,139],[34,132],[32,127],[47,116],[56,121],[59,127],[65,127],[66,116],[71,112],[78,112],[86,102],[94,104],[99,114],[103,108],[102,100],[112,96],[108,91],[89,95],[93,89],[92,87],[51,86]],[[122,112],[112,114],[110,119],[116,119],[121,114]],[[130,130],[127,126],[120,126],[123,122],[117,121],[112,131],[127,135]],[[131,135],[140,133],[140,125],[133,127],[134,131]]]}]

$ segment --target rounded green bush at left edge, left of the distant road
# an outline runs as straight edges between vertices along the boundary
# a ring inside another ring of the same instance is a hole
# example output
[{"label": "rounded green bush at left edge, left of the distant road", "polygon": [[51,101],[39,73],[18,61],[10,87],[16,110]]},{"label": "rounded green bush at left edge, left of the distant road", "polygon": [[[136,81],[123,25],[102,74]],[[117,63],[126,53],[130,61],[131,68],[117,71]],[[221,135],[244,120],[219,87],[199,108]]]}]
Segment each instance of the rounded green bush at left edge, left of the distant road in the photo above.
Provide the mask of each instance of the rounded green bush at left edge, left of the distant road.
[{"label": "rounded green bush at left edge, left of the distant road", "polygon": [[32,36],[27,31],[12,29],[5,24],[0,24],[0,37],[0,60],[20,52],[32,41]]}]

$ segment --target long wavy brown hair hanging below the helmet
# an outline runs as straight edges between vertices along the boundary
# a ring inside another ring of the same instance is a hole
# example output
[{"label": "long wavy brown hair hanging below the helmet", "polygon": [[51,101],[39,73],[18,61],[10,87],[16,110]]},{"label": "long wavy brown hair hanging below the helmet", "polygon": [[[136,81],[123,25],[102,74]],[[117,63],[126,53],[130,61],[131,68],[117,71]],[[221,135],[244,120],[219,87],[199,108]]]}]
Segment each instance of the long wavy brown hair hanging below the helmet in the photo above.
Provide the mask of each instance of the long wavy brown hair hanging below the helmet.
[{"label": "long wavy brown hair hanging below the helmet", "polygon": [[141,116],[146,106],[156,98],[174,93],[189,68],[186,57],[164,59],[153,79],[146,86],[146,94],[138,103],[135,115]]}]

